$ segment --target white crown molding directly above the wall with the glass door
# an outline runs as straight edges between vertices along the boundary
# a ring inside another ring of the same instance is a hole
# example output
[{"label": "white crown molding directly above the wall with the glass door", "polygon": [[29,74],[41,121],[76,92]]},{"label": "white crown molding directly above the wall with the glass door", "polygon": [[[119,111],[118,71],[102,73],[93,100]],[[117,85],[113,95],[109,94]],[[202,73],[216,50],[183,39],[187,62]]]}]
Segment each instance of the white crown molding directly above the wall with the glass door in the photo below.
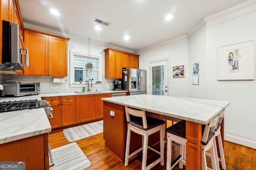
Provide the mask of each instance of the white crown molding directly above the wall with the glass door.
[{"label": "white crown molding directly above the wall with the glass door", "polygon": [[139,50],[135,51],[135,53],[138,54],[138,55],[141,55],[141,54],[149,53],[151,51],[156,51],[158,49],[162,49],[162,48],[165,48],[165,47],[168,47],[168,46],[171,46],[171,45],[184,43],[186,41],[188,41],[187,35],[182,35],[180,37],[170,39],[168,41],[164,41],[164,42],[161,42],[161,43],[158,43],[158,44],[155,44],[155,45],[145,47],[143,49],[139,49]]}]

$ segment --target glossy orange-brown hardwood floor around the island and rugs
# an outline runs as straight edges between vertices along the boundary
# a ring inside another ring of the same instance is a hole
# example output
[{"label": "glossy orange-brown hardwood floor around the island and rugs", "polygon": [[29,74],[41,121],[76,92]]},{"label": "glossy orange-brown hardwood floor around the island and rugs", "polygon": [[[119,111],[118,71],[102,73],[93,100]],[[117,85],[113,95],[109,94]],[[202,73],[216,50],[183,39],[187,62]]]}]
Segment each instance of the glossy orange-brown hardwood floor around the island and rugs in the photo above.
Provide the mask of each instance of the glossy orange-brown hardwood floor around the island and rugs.
[{"label": "glossy orange-brown hardwood floor around the island and rugs", "polygon": [[[67,141],[62,131],[55,131],[49,134],[49,142],[51,149],[66,145],[70,142]],[[105,141],[103,139],[103,133],[87,137],[75,141],[78,146],[83,150],[86,157],[90,160],[90,167],[86,170],[140,170],[142,157],[138,156],[134,160],[129,162],[129,165],[126,167],[121,163],[113,154],[111,154],[105,148]],[[173,149],[178,152],[178,146],[173,146]],[[165,146],[166,151],[166,146]],[[177,154],[175,152],[174,154]],[[256,169],[256,150],[234,143],[225,141],[224,143],[224,152],[226,159],[226,169],[227,170],[255,170]],[[153,160],[155,155],[148,151],[148,162]],[[166,161],[166,152],[165,152],[165,161]],[[210,158],[208,163],[210,166]],[[153,170],[166,170],[166,162],[164,166],[160,164],[156,165]],[[182,170],[185,170],[186,166]],[[174,170],[180,170],[178,165]]]}]

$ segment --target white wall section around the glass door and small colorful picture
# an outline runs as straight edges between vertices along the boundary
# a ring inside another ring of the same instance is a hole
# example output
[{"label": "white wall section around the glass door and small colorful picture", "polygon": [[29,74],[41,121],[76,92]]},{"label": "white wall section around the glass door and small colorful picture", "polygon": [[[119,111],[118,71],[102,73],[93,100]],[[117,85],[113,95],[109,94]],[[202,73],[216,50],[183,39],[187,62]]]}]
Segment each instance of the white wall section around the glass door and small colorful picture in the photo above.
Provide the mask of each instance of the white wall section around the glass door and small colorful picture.
[{"label": "white wall section around the glass door and small colorful picture", "polygon": [[[141,54],[139,57],[140,69],[147,71],[147,93],[149,94],[149,62],[160,59],[169,59],[168,66],[168,86],[169,96],[188,97],[188,81],[191,78],[189,70],[191,67],[188,65],[188,42],[171,45],[156,51]],[[172,66],[184,65],[184,78],[172,78]],[[176,85],[176,88],[173,88]]]}]

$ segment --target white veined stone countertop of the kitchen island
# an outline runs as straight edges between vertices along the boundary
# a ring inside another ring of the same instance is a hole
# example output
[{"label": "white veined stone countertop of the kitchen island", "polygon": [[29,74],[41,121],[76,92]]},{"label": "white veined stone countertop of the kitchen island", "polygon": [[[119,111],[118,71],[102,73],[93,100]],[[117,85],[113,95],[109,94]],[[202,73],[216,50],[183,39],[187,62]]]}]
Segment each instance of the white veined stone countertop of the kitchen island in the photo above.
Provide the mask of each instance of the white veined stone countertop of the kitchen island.
[{"label": "white veined stone countertop of the kitchen island", "polygon": [[102,98],[102,100],[201,124],[207,124],[230,104],[228,101],[151,94]]}]

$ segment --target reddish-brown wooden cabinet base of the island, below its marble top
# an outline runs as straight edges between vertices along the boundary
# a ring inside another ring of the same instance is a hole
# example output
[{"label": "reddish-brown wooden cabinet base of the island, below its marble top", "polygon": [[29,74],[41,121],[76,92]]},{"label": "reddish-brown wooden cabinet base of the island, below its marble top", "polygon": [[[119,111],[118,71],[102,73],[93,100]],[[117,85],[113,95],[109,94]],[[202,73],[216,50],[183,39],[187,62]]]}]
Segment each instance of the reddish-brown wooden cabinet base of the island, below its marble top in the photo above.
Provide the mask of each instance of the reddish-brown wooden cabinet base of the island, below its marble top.
[{"label": "reddish-brown wooden cabinet base of the island, below its marble top", "polygon": [[[114,116],[110,115],[114,111]],[[103,102],[103,139],[105,147],[110,150],[121,162],[124,163],[127,123],[124,106],[110,102]],[[160,133],[150,135],[148,144],[154,145],[159,139]],[[131,132],[130,152],[142,146],[142,137]]]}]

